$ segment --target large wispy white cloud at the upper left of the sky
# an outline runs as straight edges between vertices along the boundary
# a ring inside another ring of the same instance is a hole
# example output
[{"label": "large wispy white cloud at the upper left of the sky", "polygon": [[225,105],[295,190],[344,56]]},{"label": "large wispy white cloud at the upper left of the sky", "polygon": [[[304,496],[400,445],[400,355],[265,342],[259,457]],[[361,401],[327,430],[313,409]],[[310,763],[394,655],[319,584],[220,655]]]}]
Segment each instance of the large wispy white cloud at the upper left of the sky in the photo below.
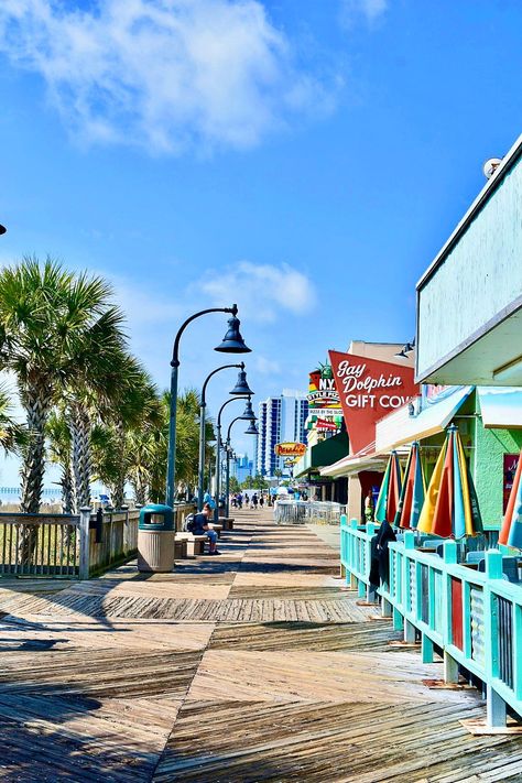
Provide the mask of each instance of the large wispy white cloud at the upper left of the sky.
[{"label": "large wispy white cloud at the upper left of the sky", "polygon": [[260,0],[70,6],[2,0],[0,52],[43,77],[83,142],[249,148],[296,113],[331,108],[338,84],[300,69]]}]

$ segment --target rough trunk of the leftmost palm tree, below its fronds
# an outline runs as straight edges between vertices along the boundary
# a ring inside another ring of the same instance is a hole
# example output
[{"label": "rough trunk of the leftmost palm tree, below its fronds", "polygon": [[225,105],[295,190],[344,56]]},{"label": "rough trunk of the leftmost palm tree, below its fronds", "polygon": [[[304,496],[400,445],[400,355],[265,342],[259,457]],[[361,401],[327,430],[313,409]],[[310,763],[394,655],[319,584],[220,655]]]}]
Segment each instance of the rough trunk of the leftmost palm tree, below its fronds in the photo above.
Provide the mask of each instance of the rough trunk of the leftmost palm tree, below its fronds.
[{"label": "rough trunk of the leftmost palm tree, below its fronds", "polygon": [[[22,465],[22,502],[25,514],[37,514],[42,500],[45,472],[45,422],[51,410],[51,396],[45,390],[30,389],[24,394],[28,416],[29,443]],[[22,563],[30,563],[36,547],[37,528],[22,525],[19,555]]]}]

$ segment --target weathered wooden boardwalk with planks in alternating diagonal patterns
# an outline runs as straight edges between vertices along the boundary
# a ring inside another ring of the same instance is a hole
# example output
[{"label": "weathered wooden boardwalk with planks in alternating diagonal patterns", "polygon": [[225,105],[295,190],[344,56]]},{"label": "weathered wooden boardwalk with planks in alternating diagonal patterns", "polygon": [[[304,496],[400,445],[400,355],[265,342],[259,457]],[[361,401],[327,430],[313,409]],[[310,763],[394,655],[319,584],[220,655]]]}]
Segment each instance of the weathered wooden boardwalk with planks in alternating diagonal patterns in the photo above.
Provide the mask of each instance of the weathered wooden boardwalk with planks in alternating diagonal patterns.
[{"label": "weathered wooden boardwalk with planks in alternating diagonal patterns", "polygon": [[463,728],[479,694],[427,687],[337,552],[238,522],[173,574],[0,583],[0,781],[522,781],[522,738]]}]

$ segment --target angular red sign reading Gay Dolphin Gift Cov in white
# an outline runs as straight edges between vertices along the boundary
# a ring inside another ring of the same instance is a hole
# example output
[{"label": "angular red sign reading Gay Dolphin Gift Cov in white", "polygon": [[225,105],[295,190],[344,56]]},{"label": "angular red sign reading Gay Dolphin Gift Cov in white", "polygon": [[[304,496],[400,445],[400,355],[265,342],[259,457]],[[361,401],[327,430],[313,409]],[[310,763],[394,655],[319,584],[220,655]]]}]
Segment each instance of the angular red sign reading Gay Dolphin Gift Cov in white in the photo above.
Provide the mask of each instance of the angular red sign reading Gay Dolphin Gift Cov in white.
[{"label": "angular red sign reading Gay Dolphin Gift Cov in white", "polygon": [[417,396],[413,367],[329,351],[351,450],[376,438],[376,422]]}]

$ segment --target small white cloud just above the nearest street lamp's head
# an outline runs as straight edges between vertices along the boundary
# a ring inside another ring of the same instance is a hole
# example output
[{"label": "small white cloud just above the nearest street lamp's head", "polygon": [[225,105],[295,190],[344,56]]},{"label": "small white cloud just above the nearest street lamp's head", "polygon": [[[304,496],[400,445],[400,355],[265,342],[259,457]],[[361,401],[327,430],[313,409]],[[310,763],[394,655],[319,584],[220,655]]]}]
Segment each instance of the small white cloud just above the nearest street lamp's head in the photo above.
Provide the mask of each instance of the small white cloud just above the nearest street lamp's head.
[{"label": "small white cloud just above the nearest street lamp's head", "polygon": [[270,323],[281,314],[303,315],[316,301],[312,281],[289,264],[254,264],[250,261],[208,271],[196,290],[213,305],[237,302],[240,318]]}]

